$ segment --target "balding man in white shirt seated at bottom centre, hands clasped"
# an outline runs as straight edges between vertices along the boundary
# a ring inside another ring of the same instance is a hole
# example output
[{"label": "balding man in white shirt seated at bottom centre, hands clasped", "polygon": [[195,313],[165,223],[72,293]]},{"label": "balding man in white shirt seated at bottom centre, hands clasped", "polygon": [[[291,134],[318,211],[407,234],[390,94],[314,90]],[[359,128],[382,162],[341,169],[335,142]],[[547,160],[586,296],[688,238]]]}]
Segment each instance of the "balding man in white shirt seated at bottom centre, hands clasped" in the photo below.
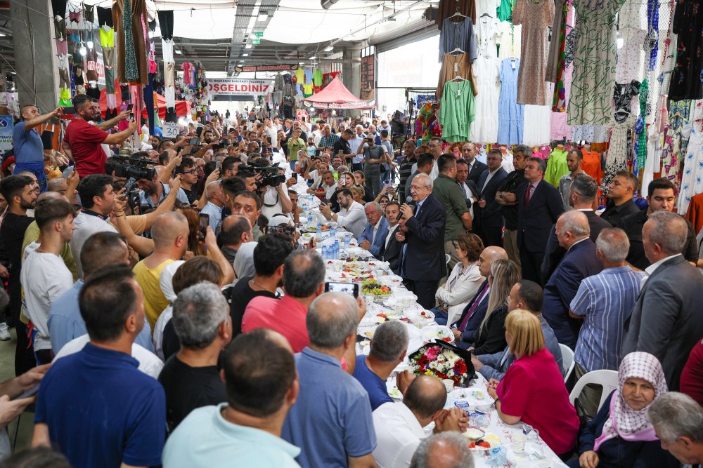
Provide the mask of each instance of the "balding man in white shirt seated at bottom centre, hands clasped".
[{"label": "balding man in white shirt seated at bottom centre, hands clasped", "polygon": [[[390,323],[390,322],[389,322]],[[420,375],[410,384],[403,401],[384,403],[373,412],[373,427],[378,445],[373,458],[384,468],[407,468],[427,424],[434,421],[434,432],[461,432],[460,408],[444,410],[446,389],[430,375]]]}]

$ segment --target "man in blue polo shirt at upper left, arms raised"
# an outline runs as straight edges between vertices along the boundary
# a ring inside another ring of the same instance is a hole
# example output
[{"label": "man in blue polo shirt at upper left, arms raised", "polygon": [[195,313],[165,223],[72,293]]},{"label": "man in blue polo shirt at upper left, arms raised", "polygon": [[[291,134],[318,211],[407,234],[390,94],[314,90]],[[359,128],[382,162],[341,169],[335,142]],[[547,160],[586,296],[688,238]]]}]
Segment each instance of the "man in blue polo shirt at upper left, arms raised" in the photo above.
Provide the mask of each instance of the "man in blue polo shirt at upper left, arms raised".
[{"label": "man in blue polo shirt at upper left, arms raised", "polygon": [[12,145],[15,150],[15,174],[30,171],[37,176],[39,189],[46,192],[46,174],[44,174],[44,144],[37,127],[53,117],[63,115],[63,109],[56,107],[48,114],[39,114],[34,105],[22,106],[22,120],[15,123],[12,131]]}]

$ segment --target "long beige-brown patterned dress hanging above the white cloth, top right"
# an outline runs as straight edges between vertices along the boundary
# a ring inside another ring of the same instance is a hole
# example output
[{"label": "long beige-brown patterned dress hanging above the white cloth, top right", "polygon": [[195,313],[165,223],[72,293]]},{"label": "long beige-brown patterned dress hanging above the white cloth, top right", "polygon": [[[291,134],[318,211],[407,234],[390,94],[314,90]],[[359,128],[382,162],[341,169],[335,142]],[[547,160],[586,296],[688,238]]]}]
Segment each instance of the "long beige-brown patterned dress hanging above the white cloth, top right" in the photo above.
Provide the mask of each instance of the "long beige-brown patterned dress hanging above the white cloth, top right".
[{"label": "long beige-brown patterned dress hanging above the white cloth, top right", "polygon": [[545,76],[549,55],[548,28],[553,19],[553,0],[515,1],[512,24],[522,25],[522,60],[517,76],[518,104],[543,106],[552,103],[552,93]]}]

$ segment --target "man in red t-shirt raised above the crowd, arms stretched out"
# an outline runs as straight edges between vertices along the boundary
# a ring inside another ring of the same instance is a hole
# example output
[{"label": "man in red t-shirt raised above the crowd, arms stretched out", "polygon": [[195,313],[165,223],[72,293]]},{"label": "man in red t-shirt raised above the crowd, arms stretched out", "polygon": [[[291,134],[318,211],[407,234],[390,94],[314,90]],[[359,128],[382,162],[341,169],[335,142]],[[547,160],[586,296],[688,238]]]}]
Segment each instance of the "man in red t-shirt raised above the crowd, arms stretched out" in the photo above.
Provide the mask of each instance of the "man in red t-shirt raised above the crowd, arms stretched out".
[{"label": "man in red t-shirt raised above the crowd, arms stretched out", "polygon": [[120,113],[115,119],[91,125],[89,121],[100,119],[100,105],[88,95],[79,94],[73,98],[76,109],[75,119],[66,127],[64,142],[70,147],[73,160],[76,161],[76,171],[81,177],[91,174],[104,174],[105,154],[101,144],[116,145],[122,143],[136,131],[136,121],[132,119],[126,130],[118,133],[107,133],[118,121],[129,118],[129,111]]}]

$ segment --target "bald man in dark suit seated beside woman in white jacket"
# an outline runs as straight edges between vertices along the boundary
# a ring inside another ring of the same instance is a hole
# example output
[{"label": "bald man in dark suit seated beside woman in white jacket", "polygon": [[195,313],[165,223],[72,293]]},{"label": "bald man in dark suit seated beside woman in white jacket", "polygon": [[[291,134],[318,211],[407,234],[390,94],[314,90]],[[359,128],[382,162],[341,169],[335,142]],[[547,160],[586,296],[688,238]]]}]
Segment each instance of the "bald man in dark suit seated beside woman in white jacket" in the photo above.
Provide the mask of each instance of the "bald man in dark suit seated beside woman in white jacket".
[{"label": "bald man in dark suit seated beside woman in white jacket", "polygon": [[479,287],[476,295],[464,307],[461,316],[453,322],[453,317],[449,317],[447,323],[453,323],[451,330],[454,333],[456,344],[459,347],[467,348],[470,343],[476,340],[479,326],[486,316],[488,309],[488,297],[491,290],[488,284],[488,276],[491,272],[491,265],[498,259],[508,260],[508,253],[505,249],[497,246],[484,248],[479,256],[479,272],[486,278]]}]

